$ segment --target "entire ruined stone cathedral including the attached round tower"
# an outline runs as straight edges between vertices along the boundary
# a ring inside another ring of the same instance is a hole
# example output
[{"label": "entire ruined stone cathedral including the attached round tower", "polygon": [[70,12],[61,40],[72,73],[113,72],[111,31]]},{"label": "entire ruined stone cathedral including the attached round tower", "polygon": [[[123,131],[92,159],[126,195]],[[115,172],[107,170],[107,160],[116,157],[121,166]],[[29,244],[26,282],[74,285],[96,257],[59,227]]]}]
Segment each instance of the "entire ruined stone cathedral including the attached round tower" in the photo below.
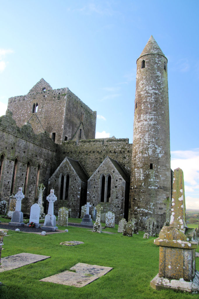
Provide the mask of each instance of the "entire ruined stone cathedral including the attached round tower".
[{"label": "entire ruined stone cathedral including the attached round tower", "polygon": [[60,207],[80,217],[81,207],[100,203],[115,222],[137,218],[144,230],[154,217],[157,231],[171,199],[167,59],[151,36],[137,60],[133,144],[95,139],[96,111],[68,88],[52,89],[42,78],[24,96],[8,100],[0,118],[0,197],[23,188],[21,211],[38,202],[38,186],[55,190]]}]

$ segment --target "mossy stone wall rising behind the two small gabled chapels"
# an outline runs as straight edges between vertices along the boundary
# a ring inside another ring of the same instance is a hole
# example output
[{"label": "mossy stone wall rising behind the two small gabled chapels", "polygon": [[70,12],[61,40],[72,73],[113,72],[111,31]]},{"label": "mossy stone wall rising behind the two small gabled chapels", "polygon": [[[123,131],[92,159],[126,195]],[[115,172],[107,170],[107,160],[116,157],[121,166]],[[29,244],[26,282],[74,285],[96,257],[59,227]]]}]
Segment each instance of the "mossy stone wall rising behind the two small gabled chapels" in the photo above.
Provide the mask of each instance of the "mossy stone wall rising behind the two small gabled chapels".
[{"label": "mossy stone wall rising behind the two small gabled chapels", "polygon": [[128,138],[81,140],[78,144],[75,141],[66,141],[62,142],[58,151],[59,164],[66,156],[78,160],[89,177],[107,156],[117,160],[130,177],[132,144],[129,144]]}]

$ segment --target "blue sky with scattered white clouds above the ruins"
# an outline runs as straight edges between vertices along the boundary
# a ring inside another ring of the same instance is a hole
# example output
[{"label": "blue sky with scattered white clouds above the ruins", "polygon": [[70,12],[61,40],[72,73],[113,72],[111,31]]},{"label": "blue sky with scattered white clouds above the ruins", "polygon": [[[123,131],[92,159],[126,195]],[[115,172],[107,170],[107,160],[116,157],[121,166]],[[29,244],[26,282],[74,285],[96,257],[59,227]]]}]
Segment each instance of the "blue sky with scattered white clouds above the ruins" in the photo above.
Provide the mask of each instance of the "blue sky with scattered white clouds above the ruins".
[{"label": "blue sky with scattered white clouds above the ruins", "polygon": [[0,0],[0,115],[43,77],[97,111],[96,137],[133,138],[136,60],[168,58],[172,169],[199,209],[199,1]]}]

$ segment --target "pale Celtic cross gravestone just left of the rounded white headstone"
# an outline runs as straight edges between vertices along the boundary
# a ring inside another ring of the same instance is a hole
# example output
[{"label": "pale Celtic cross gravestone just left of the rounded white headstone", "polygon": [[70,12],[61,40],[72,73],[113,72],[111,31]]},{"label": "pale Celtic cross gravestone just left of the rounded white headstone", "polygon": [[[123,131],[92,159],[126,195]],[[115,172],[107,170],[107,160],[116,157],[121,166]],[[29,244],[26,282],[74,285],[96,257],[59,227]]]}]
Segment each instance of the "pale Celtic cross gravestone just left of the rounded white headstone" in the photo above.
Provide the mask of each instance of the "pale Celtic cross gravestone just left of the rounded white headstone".
[{"label": "pale Celtic cross gravestone just left of the rounded white headstone", "polygon": [[23,226],[23,213],[21,212],[21,200],[24,199],[24,194],[22,193],[22,187],[18,189],[18,192],[15,195],[16,198],[16,208],[12,215],[11,222],[8,223],[8,225],[14,225],[14,226]]}]

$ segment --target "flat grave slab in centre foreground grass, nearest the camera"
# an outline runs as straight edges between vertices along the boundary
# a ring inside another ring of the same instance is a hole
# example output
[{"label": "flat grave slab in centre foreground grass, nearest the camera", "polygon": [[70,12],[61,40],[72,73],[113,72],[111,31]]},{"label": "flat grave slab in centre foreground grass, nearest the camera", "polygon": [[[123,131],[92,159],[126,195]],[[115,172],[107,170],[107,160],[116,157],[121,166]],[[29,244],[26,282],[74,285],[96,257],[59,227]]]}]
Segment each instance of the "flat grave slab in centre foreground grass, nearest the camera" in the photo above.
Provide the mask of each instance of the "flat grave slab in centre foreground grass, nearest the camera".
[{"label": "flat grave slab in centre foreground grass, nearest the camera", "polygon": [[78,263],[71,267],[70,270],[75,270],[75,272],[64,271],[40,279],[40,281],[59,283],[66,286],[75,286],[77,288],[81,288],[82,286],[86,286],[87,284],[91,283],[93,280],[105,275],[107,272],[112,270],[112,268]]}]

